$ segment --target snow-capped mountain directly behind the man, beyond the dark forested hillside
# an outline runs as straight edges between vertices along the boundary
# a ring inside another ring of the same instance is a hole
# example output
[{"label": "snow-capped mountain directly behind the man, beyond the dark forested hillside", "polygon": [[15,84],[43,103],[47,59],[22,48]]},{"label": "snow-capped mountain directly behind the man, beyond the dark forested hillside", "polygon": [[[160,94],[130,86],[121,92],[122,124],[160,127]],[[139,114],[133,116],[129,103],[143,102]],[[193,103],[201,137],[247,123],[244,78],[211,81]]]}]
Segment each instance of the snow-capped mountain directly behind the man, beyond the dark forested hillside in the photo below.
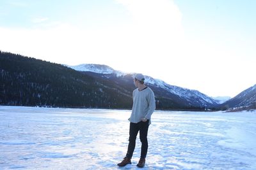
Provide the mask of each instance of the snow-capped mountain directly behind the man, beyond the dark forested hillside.
[{"label": "snow-capped mountain directly behind the man, beyond the dark forested hillside", "polygon": [[[134,89],[132,78],[136,73],[122,73],[120,71],[115,71],[109,66],[99,65],[99,64],[81,64],[79,66],[69,66],[77,71],[86,71],[85,74],[90,74],[90,76],[95,76],[97,78],[112,80],[119,85],[124,85],[127,87],[129,84],[129,89]],[[86,68],[86,69],[84,69]],[[90,72],[90,73],[89,73]],[[218,103],[209,96],[198,92],[198,90],[190,90],[182,87],[177,87],[174,85],[169,85],[162,80],[152,78],[150,76],[145,76],[145,83],[154,90],[156,97],[159,99],[167,100],[170,106],[180,106],[180,107],[214,107]],[[166,101],[166,103],[167,103]]]}]

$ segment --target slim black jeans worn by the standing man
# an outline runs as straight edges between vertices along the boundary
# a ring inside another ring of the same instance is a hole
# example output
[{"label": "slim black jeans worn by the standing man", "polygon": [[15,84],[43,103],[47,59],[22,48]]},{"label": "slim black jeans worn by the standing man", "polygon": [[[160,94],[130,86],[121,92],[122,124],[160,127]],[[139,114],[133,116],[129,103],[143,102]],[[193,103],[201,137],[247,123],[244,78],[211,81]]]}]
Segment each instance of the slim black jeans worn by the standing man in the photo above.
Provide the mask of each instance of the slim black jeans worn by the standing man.
[{"label": "slim black jeans worn by the standing man", "polygon": [[129,145],[126,153],[126,157],[132,158],[132,154],[134,152],[134,148],[136,145],[136,137],[138,132],[140,131],[140,141],[141,141],[141,155],[142,159],[145,159],[148,152],[148,126],[149,120],[147,122],[138,122],[137,124],[130,123],[130,131],[129,131]]}]

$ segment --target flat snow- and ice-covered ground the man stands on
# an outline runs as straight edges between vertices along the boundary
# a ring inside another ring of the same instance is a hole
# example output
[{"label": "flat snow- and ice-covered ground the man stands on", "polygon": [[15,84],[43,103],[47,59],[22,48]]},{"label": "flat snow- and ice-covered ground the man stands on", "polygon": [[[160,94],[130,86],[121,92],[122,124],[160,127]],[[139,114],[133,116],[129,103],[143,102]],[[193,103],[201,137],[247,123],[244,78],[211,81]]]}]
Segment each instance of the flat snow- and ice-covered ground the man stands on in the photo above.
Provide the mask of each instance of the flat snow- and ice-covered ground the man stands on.
[{"label": "flat snow- and ice-covered ground the man stands on", "polygon": [[[0,106],[0,169],[139,169],[129,110]],[[256,112],[156,111],[144,169],[256,169]],[[138,136],[139,137],[139,136]]]}]

